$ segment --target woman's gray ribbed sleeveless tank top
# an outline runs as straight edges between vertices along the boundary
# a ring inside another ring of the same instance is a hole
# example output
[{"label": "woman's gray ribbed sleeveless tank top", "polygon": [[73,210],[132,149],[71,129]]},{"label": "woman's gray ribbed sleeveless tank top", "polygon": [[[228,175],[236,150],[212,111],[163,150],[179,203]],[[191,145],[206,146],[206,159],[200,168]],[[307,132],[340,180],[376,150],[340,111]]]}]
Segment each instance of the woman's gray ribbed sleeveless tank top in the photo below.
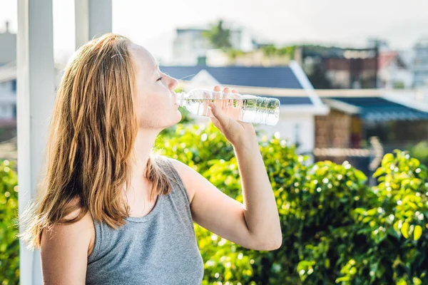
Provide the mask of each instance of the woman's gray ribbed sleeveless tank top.
[{"label": "woman's gray ribbed sleeveless tank top", "polygon": [[159,157],[172,192],[144,217],[113,229],[94,221],[95,244],[86,284],[200,284],[203,260],[196,243],[187,190],[166,157]]}]

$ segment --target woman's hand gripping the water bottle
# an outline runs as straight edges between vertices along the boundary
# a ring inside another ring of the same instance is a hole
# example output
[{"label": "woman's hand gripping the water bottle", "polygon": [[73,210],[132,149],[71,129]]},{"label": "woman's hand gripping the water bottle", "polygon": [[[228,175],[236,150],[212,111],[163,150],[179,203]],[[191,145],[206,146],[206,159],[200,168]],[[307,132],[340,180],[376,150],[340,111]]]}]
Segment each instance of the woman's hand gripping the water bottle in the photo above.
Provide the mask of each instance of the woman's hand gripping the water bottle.
[{"label": "woman's hand gripping the water bottle", "polygon": [[[214,91],[219,92],[219,86],[215,86]],[[223,93],[229,93],[229,88],[225,88]],[[233,94],[238,95],[237,90],[232,90]],[[233,99],[225,100],[220,104],[210,103],[208,105],[211,113],[211,121],[217,127],[228,141],[234,146],[245,147],[257,142],[255,130],[252,123],[244,123],[233,118],[238,118],[242,108],[242,101],[239,100],[237,106],[233,105]]]}]

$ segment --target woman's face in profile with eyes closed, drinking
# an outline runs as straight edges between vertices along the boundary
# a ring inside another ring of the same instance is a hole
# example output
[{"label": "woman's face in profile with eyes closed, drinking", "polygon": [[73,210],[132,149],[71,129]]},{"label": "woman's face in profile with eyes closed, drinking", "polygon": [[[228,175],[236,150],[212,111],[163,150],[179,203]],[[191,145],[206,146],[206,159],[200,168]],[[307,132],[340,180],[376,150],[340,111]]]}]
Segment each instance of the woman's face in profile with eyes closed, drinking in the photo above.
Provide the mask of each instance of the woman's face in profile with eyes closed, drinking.
[{"label": "woman's face in profile with eyes closed, drinking", "polygon": [[136,115],[138,128],[163,130],[180,122],[174,89],[175,78],[159,71],[150,52],[131,43],[129,47],[136,73]]}]

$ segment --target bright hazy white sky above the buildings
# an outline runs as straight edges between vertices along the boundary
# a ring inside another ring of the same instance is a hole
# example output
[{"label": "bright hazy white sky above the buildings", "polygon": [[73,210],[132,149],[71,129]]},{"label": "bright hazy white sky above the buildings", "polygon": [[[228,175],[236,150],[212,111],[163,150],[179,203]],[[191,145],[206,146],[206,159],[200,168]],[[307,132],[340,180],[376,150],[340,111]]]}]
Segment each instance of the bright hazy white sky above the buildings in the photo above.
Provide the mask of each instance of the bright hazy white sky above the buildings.
[{"label": "bright hazy white sky above the buildings", "polygon": [[[256,38],[277,45],[323,43],[364,47],[383,38],[408,49],[428,36],[427,0],[112,0],[113,32],[168,60],[175,28],[233,21]],[[74,0],[53,0],[54,52],[66,58],[74,48]],[[16,0],[0,0],[0,31],[10,21],[16,32]]]}]

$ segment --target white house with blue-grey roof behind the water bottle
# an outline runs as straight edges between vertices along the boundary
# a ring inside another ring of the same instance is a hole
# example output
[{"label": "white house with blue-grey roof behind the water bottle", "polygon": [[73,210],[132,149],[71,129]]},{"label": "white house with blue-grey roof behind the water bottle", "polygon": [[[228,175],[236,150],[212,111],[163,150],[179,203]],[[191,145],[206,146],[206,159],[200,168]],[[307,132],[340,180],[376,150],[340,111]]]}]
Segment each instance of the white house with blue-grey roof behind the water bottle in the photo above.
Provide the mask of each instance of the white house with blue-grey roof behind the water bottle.
[{"label": "white house with blue-grey roof behind the water bottle", "polygon": [[[297,152],[312,153],[315,147],[315,115],[326,115],[329,109],[318,98],[300,66],[161,66],[161,71],[188,81],[185,90],[204,86],[235,86],[242,94],[278,98],[280,121],[275,126],[260,125],[267,136],[276,132],[287,142],[297,145]],[[275,95],[275,93],[287,95]],[[206,122],[206,118],[198,118]]]}]

